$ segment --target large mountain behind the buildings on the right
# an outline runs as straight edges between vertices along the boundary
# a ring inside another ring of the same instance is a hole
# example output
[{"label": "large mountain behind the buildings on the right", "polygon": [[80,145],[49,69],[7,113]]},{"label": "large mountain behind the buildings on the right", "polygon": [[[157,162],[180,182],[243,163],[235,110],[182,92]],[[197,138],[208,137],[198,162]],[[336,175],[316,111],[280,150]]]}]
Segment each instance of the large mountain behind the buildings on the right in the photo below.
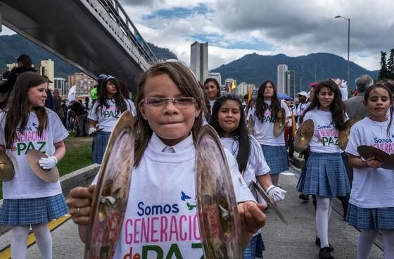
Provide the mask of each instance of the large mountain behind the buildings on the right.
[{"label": "large mountain behind the buildings on the right", "polygon": [[[237,83],[254,83],[259,87],[265,80],[277,82],[277,65],[286,64],[288,70],[295,70],[295,90],[309,91],[314,82],[316,64],[316,80],[328,78],[347,79],[348,61],[331,53],[312,53],[307,56],[289,57],[284,54],[261,56],[248,54],[211,72],[220,72],[222,79],[233,78]],[[355,89],[355,80],[362,74],[378,77],[378,71],[366,70],[356,63],[350,62],[350,89]],[[300,90],[300,84],[302,83]]]}]

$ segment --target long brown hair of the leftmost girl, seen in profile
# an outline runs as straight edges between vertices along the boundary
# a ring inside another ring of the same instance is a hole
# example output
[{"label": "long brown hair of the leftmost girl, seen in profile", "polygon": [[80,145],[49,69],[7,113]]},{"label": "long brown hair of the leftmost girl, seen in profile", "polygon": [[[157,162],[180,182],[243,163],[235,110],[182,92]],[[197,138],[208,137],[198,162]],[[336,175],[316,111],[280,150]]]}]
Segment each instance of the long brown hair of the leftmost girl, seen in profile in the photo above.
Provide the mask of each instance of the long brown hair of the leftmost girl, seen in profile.
[{"label": "long brown hair of the leftmost girl, seen in profile", "polygon": [[[37,72],[23,72],[18,76],[5,109],[6,126],[4,135],[6,137],[6,149],[11,149],[13,141],[16,139],[17,127],[20,127],[20,132],[24,132],[29,120],[27,91],[43,83],[48,83],[48,80]],[[33,111],[36,113],[39,122],[37,128],[39,136],[42,137],[44,129],[48,127],[48,115],[45,107],[34,107]]]}]

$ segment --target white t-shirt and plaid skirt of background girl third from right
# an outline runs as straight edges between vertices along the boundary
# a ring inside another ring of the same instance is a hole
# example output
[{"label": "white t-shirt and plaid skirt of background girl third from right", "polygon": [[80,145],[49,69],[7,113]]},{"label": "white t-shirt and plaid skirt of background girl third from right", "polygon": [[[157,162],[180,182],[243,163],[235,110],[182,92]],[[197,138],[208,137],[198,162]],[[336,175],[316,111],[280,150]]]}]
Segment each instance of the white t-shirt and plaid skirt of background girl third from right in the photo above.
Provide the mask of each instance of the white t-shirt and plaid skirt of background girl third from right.
[{"label": "white t-shirt and plaid skirt of background girl third from right", "polygon": [[[271,105],[271,101],[265,101],[265,103],[267,103],[268,106]],[[288,110],[286,103],[283,101],[281,101],[281,108],[284,108],[286,111],[286,118],[291,116],[290,110]],[[253,118],[255,130],[254,137],[258,140],[262,148],[262,153],[264,153],[265,160],[271,169],[269,173],[273,175],[288,170],[288,157],[284,141],[284,132],[281,132],[278,137],[274,137],[274,120],[272,119],[271,110],[269,110],[269,108],[265,110],[265,114],[261,121],[255,113],[255,106],[253,106],[249,109],[247,118],[248,120]]]}]

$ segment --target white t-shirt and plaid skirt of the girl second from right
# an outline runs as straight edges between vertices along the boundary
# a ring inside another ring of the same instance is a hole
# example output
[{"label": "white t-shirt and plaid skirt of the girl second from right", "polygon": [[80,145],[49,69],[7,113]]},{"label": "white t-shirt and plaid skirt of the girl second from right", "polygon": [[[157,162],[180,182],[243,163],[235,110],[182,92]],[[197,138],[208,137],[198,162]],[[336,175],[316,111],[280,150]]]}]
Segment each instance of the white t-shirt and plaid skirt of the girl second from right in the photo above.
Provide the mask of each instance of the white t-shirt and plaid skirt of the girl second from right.
[{"label": "white t-shirt and plaid skirt of the girl second from right", "polygon": [[346,196],[350,192],[348,174],[338,147],[338,130],[329,111],[310,110],[305,120],[313,120],[310,156],[297,184],[297,191],[318,196]]}]

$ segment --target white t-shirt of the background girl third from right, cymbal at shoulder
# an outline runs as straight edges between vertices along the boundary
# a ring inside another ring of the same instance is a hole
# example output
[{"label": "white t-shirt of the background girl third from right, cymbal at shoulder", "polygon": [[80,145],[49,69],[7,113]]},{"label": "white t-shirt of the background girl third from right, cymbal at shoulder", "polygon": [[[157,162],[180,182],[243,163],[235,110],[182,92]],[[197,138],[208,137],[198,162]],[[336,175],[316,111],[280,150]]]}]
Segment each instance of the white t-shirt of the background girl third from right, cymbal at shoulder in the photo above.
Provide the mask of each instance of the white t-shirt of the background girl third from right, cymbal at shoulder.
[{"label": "white t-shirt of the background girl third from right, cymbal at shoulder", "polygon": [[[271,105],[271,101],[265,101],[268,106]],[[254,137],[262,145],[268,146],[284,146],[284,132],[282,132],[278,137],[274,137],[274,122],[271,120],[271,110],[269,108],[265,110],[265,114],[262,118],[262,122],[258,119],[255,114],[255,105],[249,109],[248,116],[246,118],[249,120],[250,117],[253,118],[255,124],[255,134]],[[281,108],[286,111],[286,118],[291,116],[290,110],[286,106],[286,103],[281,101]]]}]

